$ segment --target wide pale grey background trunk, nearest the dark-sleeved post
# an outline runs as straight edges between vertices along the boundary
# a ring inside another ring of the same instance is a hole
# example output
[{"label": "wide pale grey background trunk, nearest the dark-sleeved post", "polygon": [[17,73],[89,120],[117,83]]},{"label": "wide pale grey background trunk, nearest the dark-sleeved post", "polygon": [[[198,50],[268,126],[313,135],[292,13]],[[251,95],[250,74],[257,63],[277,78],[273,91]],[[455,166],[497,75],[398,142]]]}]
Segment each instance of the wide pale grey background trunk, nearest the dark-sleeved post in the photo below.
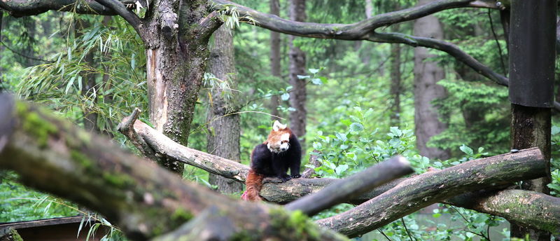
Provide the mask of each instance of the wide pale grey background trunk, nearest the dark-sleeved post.
[{"label": "wide pale grey background trunk, nearest the dark-sleeved post", "polygon": [[[427,4],[430,0],[420,0],[418,5]],[[435,39],[442,39],[443,29],[437,18],[428,15],[414,22],[414,35]],[[428,158],[449,158],[449,151],[430,148],[426,144],[447,126],[438,119],[437,109],[431,104],[434,99],[447,95],[437,81],[444,78],[444,70],[437,66],[437,62],[426,60],[434,55],[428,53],[427,48],[414,49],[414,132],[416,134],[416,148],[421,156]]]}]

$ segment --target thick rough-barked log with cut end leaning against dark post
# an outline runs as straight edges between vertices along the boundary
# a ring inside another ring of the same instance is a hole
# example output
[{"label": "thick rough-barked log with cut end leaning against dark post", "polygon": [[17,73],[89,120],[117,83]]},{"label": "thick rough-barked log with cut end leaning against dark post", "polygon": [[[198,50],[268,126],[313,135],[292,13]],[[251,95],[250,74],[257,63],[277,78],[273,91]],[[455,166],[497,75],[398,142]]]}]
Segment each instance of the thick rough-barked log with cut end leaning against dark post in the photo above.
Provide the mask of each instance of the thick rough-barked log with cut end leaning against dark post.
[{"label": "thick rough-barked log with cut end leaning against dark post", "polygon": [[[358,207],[318,220],[317,223],[349,237],[356,237],[435,202],[484,186],[544,177],[546,170],[546,162],[538,149],[471,160],[405,179]],[[348,223],[350,218],[353,223]]]}]

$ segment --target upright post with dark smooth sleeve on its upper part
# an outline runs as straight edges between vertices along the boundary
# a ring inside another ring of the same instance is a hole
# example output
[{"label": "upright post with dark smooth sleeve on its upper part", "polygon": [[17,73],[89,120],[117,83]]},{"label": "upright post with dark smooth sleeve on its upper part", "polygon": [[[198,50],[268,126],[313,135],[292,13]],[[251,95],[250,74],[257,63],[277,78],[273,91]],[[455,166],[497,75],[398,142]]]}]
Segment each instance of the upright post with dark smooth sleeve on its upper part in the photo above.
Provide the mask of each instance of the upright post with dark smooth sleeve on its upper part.
[{"label": "upright post with dark smooth sleeve on its upper part", "polygon": [[[510,88],[512,149],[538,147],[547,175],[523,181],[521,188],[548,194],[551,158],[551,112],[554,104],[556,1],[514,0],[510,18]],[[531,8],[533,11],[527,11]],[[545,218],[543,216],[543,218]],[[511,222],[511,237],[550,240],[547,230]]]}]

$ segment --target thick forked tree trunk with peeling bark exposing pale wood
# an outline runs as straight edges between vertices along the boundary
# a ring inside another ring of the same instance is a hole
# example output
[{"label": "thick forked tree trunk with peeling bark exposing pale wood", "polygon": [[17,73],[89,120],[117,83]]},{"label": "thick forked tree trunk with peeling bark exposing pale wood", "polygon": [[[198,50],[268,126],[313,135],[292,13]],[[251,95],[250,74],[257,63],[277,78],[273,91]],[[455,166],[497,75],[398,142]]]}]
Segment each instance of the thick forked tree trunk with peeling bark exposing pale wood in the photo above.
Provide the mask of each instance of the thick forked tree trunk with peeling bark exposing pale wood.
[{"label": "thick forked tree trunk with peeling bark exposing pale wood", "polygon": [[[146,13],[149,22],[141,34],[146,45],[150,121],[156,130],[186,146],[209,57],[209,36],[219,25],[211,22],[217,21],[216,15],[209,15],[206,1],[155,3]],[[183,173],[182,163],[158,162]]]}]

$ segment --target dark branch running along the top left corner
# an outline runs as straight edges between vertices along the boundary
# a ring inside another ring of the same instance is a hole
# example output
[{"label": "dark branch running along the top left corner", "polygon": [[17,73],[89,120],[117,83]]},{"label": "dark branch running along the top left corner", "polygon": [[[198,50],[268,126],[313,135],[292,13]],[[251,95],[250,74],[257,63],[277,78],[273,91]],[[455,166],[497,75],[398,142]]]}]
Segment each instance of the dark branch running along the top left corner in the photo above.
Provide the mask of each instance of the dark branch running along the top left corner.
[{"label": "dark branch running along the top left corner", "polygon": [[10,15],[15,17],[38,15],[50,10],[116,15],[116,12],[111,8],[106,8],[94,0],[0,0],[0,8],[5,9]]}]

